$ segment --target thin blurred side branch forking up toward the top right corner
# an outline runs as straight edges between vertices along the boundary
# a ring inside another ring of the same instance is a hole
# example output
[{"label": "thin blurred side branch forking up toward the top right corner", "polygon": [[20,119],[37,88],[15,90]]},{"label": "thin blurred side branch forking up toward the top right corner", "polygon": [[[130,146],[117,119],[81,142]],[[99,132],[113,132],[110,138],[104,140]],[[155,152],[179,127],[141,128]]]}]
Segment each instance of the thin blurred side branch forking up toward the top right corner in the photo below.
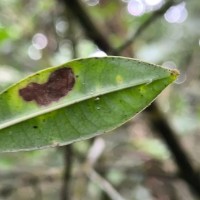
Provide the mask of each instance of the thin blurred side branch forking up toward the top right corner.
[{"label": "thin blurred side branch forking up toward the top right corner", "polygon": [[[180,2],[177,2],[180,3]],[[147,18],[135,31],[135,33],[128,38],[121,46],[119,46],[117,49],[113,51],[114,54],[120,54],[124,49],[126,49],[128,46],[133,44],[135,40],[140,36],[152,23],[154,23],[158,18],[163,16],[163,14],[172,6],[177,4],[174,0],[167,1],[159,10],[153,12],[153,14]]]}]

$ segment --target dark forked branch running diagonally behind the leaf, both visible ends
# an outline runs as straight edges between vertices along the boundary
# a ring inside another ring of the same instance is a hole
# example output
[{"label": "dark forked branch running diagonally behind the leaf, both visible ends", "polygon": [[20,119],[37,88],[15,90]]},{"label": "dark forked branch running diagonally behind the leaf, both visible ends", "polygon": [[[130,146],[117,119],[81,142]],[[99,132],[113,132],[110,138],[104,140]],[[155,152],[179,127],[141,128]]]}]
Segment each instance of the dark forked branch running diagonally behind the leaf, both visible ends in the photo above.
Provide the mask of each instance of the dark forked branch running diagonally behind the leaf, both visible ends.
[{"label": "dark forked branch running diagonally behind the leaf, both visible ends", "polygon": [[[102,49],[106,53],[115,52],[112,46],[109,44],[107,38],[105,38],[104,35],[96,28],[95,24],[92,22],[91,18],[89,17],[88,13],[85,11],[85,9],[83,8],[79,0],[73,0],[73,1],[62,0],[62,1],[65,3],[67,8],[71,9],[72,13],[74,14],[74,17],[77,18],[83,30],[85,31],[86,35],[95,44],[97,44],[100,49]],[[167,8],[173,5],[172,3],[176,4],[176,2],[170,0],[168,1],[167,4],[165,4],[164,8],[161,8],[160,10],[156,11],[157,14],[155,14],[155,16],[153,15],[154,17],[151,17],[151,19],[147,20],[145,24],[142,25],[138,31],[136,31],[137,35],[133,36],[133,39],[136,38],[139,34],[141,34],[141,32],[146,30],[146,26],[149,26],[154,21],[154,19],[157,19],[159,16],[161,16],[164,13],[164,11],[167,10]],[[132,40],[130,42],[132,42]],[[123,45],[123,48],[126,48],[127,45]],[[122,50],[123,50],[122,47],[120,47],[120,51]],[[114,55],[117,55],[117,53],[115,52]],[[193,191],[195,191],[198,196],[200,196],[199,176],[197,175],[192,165],[190,164],[189,158],[187,154],[185,153],[184,149],[182,148],[182,146],[176,139],[176,134],[174,133],[173,129],[170,127],[169,123],[166,122],[166,119],[163,113],[160,111],[160,109],[158,108],[156,104],[152,104],[149,107],[149,110],[151,110],[151,112],[155,113],[157,116],[156,120],[155,118],[150,119],[151,124],[152,126],[156,128],[156,130],[162,136],[164,142],[168,145],[176,161],[176,164],[182,173],[183,179],[188,183],[190,188]],[[163,122],[163,125],[165,125],[164,126],[165,129],[161,125],[159,125],[158,122]],[[187,170],[184,170],[183,166],[185,166]]]}]

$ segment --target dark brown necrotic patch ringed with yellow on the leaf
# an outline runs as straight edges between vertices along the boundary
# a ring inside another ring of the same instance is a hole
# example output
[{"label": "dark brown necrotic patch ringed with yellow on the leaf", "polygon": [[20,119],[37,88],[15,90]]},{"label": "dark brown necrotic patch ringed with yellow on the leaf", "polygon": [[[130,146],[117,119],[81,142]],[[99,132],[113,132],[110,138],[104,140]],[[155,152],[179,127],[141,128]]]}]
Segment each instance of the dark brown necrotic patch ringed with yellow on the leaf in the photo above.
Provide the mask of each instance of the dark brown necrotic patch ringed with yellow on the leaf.
[{"label": "dark brown necrotic patch ringed with yellow on the leaf", "polygon": [[19,95],[25,101],[35,101],[38,105],[46,106],[53,101],[58,101],[72,90],[75,76],[71,68],[58,69],[49,76],[44,84],[29,83],[19,90]]}]

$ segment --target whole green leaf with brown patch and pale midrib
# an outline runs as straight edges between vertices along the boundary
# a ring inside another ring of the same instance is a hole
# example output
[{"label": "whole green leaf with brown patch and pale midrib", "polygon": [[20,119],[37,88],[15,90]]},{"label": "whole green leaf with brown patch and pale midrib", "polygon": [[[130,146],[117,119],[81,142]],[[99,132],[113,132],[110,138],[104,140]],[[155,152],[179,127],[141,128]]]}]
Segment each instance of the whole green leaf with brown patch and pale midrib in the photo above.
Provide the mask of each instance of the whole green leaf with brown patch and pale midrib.
[{"label": "whole green leaf with brown patch and pale midrib", "polygon": [[108,132],[177,76],[122,57],[77,59],[40,71],[0,94],[0,151],[60,146]]}]

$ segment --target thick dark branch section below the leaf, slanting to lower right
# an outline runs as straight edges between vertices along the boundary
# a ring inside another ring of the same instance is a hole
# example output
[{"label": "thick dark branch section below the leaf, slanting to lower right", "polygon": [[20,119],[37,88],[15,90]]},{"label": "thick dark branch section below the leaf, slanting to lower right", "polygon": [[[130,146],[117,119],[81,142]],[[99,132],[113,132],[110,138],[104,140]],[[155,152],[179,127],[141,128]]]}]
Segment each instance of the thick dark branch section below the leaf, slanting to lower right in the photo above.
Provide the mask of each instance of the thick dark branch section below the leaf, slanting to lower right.
[{"label": "thick dark branch section below the leaf, slanting to lower right", "polygon": [[199,175],[194,170],[187,153],[181,147],[176,134],[174,134],[168,121],[164,118],[163,113],[158,109],[155,102],[152,103],[146,111],[151,115],[151,125],[156,130],[159,130],[159,136],[164,139],[167,146],[170,148],[174,160],[179,167],[180,176],[191,186],[191,189],[200,196]]}]

